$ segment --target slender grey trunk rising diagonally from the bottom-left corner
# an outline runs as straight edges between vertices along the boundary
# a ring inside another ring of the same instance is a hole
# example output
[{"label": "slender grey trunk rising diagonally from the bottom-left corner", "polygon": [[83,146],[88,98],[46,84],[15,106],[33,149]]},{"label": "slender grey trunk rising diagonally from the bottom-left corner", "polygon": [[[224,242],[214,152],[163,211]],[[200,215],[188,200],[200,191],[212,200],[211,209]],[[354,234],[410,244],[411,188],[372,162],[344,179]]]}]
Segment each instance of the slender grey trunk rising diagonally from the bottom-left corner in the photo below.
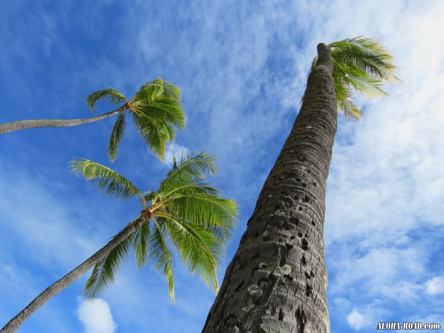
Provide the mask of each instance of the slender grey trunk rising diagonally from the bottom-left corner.
[{"label": "slender grey trunk rising diagonally from the bottom-left corner", "polygon": [[22,311],[20,311],[14,318],[12,318],[1,330],[0,333],[12,333],[18,330],[25,320],[29,318],[40,306],[46,303],[51,297],[57,295],[66,287],[77,281],[83,274],[86,273],[97,261],[108,255],[112,249],[131,235],[137,228],[139,228],[145,218],[139,218],[135,222],[129,224],[122,229],[111,241],[107,243],[102,249],[97,251],[94,255],[86,259],[80,265],[75,267],[71,272],[65,275],[57,282],[50,285],[44,292],[38,295],[34,300],[28,304]]}]

